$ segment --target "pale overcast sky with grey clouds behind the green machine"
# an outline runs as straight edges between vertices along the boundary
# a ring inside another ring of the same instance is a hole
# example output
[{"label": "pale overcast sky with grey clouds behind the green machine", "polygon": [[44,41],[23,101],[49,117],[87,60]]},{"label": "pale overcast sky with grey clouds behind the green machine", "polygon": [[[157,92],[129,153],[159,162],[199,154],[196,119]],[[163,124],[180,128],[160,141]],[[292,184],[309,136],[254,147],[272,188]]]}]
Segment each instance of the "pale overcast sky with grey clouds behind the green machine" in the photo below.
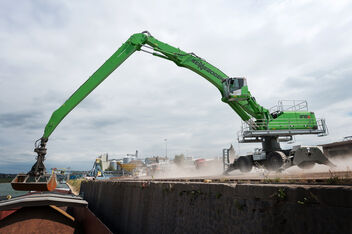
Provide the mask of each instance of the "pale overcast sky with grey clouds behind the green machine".
[{"label": "pale overcast sky with grey clouds behind the green machine", "polygon": [[[133,33],[244,76],[256,100],[305,99],[326,118],[321,144],[352,135],[352,4],[348,1],[1,1],[0,172],[26,172],[50,115]],[[136,52],[76,107],[48,142],[46,165],[90,169],[118,158],[216,157],[241,121],[208,81]],[[283,144],[283,147],[287,147]]]}]

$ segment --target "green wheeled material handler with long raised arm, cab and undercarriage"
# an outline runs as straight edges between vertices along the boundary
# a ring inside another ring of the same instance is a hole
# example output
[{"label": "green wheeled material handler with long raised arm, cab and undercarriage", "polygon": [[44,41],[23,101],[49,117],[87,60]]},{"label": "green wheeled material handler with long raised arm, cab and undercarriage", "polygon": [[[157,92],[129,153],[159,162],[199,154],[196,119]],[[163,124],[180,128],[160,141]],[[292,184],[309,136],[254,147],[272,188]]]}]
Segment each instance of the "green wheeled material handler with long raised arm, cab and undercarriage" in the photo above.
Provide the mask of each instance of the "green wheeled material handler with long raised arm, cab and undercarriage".
[{"label": "green wheeled material handler with long raised arm, cab and undercarriage", "polygon": [[[34,151],[37,153],[37,162],[28,172],[28,176],[38,178],[46,174],[43,162],[47,152],[46,144],[49,136],[71,110],[136,51],[147,52],[156,57],[170,60],[179,67],[187,68],[208,80],[220,91],[221,100],[228,104],[248,126],[247,131],[244,131],[243,142],[262,142],[262,152],[265,153],[265,156],[262,156],[260,160],[256,160],[254,156],[246,156],[244,164],[246,168],[252,167],[255,161],[263,162],[263,164],[264,162],[269,162],[265,163],[265,165],[270,170],[287,167],[289,161],[292,162],[292,165],[293,163],[300,164],[313,161],[331,165],[322,153],[311,157],[311,154],[315,151],[307,147],[295,150],[295,152],[302,151],[300,158],[303,160],[300,159],[295,162],[295,158],[298,156],[296,155],[297,153],[292,153],[292,150],[281,150],[278,143],[281,138],[292,137],[295,134],[324,135],[326,133],[325,123],[322,120],[320,122],[317,121],[313,112],[301,110],[284,111],[280,109],[270,112],[256,102],[248,90],[245,78],[229,77],[194,53],[187,53],[161,42],[149,32],[144,31],[132,35],[62,106],[53,112],[45,127],[43,136],[36,144]],[[307,153],[307,157],[304,157],[305,153],[303,151]],[[314,158],[314,160],[312,161],[311,158]],[[237,161],[229,163],[227,171],[237,169]],[[242,164],[243,162],[241,162]],[[16,183],[14,181],[13,185],[16,186]]]}]

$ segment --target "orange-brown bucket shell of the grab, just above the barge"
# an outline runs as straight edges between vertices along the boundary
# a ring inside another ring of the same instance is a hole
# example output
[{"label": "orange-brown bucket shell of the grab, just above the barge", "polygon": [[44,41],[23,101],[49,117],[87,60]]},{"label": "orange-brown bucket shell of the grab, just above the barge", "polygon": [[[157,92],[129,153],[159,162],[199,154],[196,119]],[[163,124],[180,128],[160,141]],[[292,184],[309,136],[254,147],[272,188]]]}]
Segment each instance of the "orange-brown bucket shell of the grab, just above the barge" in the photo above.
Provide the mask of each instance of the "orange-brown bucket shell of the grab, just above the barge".
[{"label": "orange-brown bucket shell of the grab, just above the barge", "polygon": [[14,190],[21,191],[53,191],[57,181],[55,174],[41,175],[39,177],[28,174],[18,174],[11,182]]}]

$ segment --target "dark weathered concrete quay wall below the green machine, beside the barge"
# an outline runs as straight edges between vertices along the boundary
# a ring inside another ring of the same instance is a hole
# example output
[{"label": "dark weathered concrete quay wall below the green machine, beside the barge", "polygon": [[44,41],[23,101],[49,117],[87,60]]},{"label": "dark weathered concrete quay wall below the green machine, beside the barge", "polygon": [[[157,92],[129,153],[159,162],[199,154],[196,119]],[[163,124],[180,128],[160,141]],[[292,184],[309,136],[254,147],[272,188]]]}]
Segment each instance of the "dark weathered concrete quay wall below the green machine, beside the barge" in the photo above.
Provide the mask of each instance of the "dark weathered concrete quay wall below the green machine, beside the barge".
[{"label": "dark weathered concrete quay wall below the green machine, beside the barge", "polygon": [[352,233],[352,187],[85,181],[115,233]]}]

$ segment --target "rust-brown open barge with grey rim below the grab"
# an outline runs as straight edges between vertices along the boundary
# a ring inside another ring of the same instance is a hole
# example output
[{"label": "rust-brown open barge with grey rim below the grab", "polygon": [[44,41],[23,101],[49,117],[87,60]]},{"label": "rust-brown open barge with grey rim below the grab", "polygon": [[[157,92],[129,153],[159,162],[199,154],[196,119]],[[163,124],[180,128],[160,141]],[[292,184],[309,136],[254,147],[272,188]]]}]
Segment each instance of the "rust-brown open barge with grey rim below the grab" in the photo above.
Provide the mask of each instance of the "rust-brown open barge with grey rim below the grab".
[{"label": "rust-brown open barge with grey rim below the grab", "polygon": [[2,200],[0,233],[111,233],[87,206],[81,197],[53,192]]}]

